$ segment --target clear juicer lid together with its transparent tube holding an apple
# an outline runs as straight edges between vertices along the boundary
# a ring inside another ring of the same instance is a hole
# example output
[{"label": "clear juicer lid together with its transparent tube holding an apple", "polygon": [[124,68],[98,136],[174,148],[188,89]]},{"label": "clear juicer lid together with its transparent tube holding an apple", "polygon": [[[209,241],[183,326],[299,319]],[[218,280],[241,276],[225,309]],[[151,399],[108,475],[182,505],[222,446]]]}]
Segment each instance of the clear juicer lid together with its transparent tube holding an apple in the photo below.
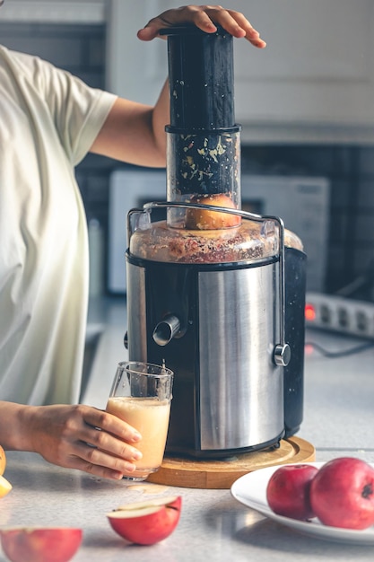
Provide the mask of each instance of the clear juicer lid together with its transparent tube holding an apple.
[{"label": "clear juicer lid together with its transparent tube holding an apple", "polygon": [[[282,221],[240,210],[239,126],[188,134],[167,127],[167,132],[167,201],[130,211],[130,254],[216,264],[279,256]],[[160,207],[165,210],[161,221],[154,218]]]}]

